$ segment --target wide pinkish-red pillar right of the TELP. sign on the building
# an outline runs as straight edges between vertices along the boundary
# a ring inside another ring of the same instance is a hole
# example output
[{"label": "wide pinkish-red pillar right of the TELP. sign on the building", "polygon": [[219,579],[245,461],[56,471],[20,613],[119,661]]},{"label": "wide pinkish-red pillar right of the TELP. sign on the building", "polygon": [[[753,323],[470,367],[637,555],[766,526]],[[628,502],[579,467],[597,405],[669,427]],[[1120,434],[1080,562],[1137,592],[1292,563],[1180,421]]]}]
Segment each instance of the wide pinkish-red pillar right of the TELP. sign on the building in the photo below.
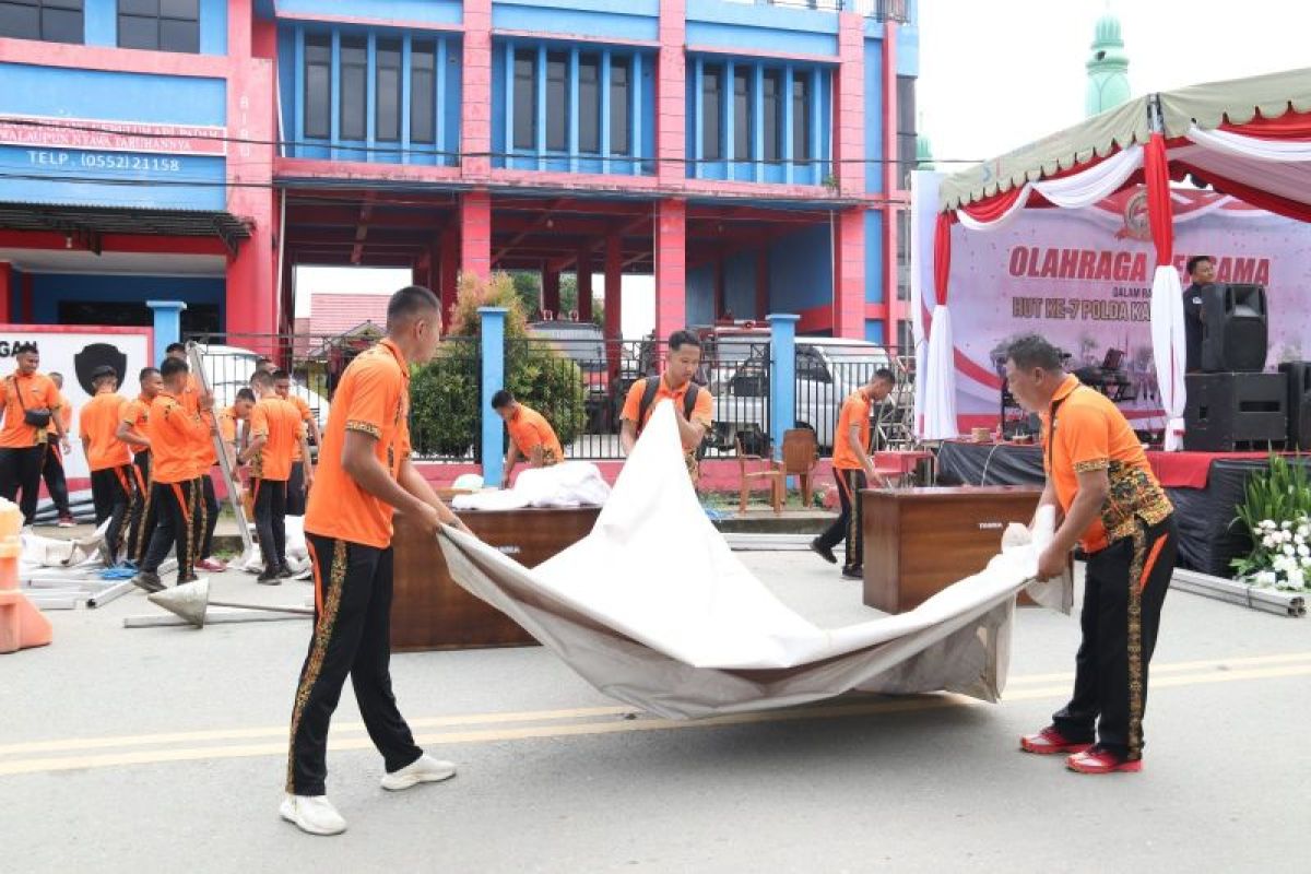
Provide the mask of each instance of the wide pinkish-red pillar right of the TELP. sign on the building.
[{"label": "wide pinkish-red pillar right of the TELP. sign on the building", "polygon": [[[273,183],[277,138],[273,96],[273,62],[250,56],[250,0],[228,3],[228,135],[239,138],[227,161],[227,210],[246,219],[250,238],[228,258],[227,332],[229,334],[271,334],[283,321],[278,300],[278,258],[274,237],[279,236]],[[271,350],[256,350],[271,351]]]}]

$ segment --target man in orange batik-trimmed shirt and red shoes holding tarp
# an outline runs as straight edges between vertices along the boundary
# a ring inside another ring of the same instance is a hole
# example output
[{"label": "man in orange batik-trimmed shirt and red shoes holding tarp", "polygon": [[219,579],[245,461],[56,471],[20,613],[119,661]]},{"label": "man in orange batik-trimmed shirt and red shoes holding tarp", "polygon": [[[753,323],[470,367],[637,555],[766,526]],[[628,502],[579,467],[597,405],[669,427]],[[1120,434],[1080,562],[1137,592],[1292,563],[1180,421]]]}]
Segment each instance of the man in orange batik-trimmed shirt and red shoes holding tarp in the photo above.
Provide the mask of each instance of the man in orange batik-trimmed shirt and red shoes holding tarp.
[{"label": "man in orange batik-trimmed shirt and red shoes holding tarp", "polygon": [[1038,508],[1053,507],[1061,520],[1038,557],[1038,579],[1059,575],[1076,544],[1088,557],[1074,694],[1020,748],[1071,753],[1066,765],[1080,773],[1141,770],[1147,663],[1175,570],[1175,508],[1124,414],[1065,373],[1051,343],[1036,334],[1013,341],[1006,380],[1042,417],[1047,481]]}]

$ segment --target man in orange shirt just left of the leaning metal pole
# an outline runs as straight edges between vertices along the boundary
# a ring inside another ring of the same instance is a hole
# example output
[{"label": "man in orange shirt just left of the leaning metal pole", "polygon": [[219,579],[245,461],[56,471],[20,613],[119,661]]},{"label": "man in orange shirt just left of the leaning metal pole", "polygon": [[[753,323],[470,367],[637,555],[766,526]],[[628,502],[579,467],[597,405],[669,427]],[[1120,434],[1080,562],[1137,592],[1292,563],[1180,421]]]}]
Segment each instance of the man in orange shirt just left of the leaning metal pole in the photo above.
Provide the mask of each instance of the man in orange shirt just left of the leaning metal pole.
[{"label": "man in orange shirt just left of the leaning metal pole", "polygon": [[198,411],[186,409],[186,362],[165,358],[160,364],[164,388],[151,401],[146,422],[151,442],[151,474],[153,478],[151,501],[159,514],[159,525],[146,549],[146,560],[132,583],[148,592],[164,588],[159,567],[170,548],[177,550],[177,582],[190,583],[195,577],[195,560],[205,532],[205,508],[201,484],[197,478],[195,447],[202,435],[210,434],[210,425],[201,418],[208,413],[214,400],[199,394]]}]

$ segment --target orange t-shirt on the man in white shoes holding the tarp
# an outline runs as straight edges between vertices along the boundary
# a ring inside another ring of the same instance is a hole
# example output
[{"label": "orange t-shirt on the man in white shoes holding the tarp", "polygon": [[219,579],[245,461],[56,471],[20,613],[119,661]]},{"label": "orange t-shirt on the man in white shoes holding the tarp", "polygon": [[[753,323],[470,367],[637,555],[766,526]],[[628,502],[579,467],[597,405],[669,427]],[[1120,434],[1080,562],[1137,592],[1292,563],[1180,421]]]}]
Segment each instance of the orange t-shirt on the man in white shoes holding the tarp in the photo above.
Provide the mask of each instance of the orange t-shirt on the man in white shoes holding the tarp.
[{"label": "orange t-shirt on the man in white shoes holding the tarp", "polygon": [[374,455],[396,477],[409,457],[409,366],[384,339],[346,367],[324,428],[305,531],[385,549],[392,542],[392,507],[359,487],[341,465],[347,431],[376,438]]}]

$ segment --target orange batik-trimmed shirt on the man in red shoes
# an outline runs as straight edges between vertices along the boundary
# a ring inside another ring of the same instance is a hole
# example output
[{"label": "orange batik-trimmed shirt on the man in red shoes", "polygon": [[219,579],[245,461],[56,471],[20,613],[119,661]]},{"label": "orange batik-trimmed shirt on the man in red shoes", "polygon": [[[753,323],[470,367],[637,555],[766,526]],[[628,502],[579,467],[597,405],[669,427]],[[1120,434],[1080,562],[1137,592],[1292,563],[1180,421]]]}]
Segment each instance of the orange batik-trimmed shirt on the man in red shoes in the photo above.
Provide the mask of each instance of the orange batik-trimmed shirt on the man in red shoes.
[{"label": "orange batik-trimmed shirt on the man in red shoes", "polygon": [[1104,469],[1110,480],[1097,519],[1079,536],[1084,552],[1131,537],[1135,520],[1155,525],[1175,511],[1129,421],[1074,375],[1066,376],[1042,414],[1042,465],[1065,512],[1079,494],[1079,473]]}]

